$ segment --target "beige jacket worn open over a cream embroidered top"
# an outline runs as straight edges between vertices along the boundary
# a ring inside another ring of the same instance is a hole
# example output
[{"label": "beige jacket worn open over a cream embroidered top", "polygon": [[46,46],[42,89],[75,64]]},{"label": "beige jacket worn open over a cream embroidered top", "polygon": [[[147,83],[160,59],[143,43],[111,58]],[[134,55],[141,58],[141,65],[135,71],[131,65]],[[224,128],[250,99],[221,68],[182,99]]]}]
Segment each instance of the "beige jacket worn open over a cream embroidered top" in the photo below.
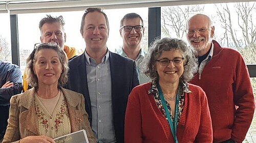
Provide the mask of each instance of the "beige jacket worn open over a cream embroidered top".
[{"label": "beige jacket worn open over a cream embroidered top", "polygon": [[[84,98],[82,94],[61,88],[67,100],[71,132],[86,130],[89,142],[96,142],[85,110]],[[19,142],[30,135],[39,135],[38,122],[34,107],[35,89],[30,89],[25,93],[12,96],[10,100],[10,113],[8,126],[4,136],[5,142]]]}]

